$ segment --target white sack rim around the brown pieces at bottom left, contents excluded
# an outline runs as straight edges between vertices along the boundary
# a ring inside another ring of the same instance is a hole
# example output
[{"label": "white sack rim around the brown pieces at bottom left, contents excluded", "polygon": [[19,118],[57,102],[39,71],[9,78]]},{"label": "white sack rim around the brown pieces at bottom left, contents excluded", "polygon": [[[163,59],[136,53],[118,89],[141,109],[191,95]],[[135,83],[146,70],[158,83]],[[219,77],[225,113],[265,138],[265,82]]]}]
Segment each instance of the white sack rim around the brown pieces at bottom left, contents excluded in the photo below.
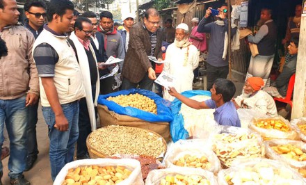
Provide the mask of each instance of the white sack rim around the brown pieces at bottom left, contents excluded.
[{"label": "white sack rim around the brown pieces at bottom left, contents excluded", "polygon": [[135,159],[84,159],[67,163],[56,176],[54,185],[65,184],[67,174],[71,169],[80,166],[120,166],[131,171],[131,174],[124,179],[119,185],[142,185],[143,175],[141,175],[141,168],[139,161]]}]

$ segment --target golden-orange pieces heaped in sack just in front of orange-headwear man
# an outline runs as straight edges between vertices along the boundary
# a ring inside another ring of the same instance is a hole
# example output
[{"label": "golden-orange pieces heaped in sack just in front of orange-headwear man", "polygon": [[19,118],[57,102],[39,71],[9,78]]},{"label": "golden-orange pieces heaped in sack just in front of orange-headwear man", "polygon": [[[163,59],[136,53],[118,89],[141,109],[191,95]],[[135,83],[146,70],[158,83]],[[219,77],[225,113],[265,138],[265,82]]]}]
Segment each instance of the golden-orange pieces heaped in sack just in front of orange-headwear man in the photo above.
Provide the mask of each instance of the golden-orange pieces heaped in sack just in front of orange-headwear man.
[{"label": "golden-orange pieces heaped in sack just in front of orange-headwear man", "polygon": [[261,120],[259,122],[256,122],[255,124],[259,128],[263,129],[277,129],[279,131],[287,132],[290,130],[288,125],[284,123],[282,120]]}]

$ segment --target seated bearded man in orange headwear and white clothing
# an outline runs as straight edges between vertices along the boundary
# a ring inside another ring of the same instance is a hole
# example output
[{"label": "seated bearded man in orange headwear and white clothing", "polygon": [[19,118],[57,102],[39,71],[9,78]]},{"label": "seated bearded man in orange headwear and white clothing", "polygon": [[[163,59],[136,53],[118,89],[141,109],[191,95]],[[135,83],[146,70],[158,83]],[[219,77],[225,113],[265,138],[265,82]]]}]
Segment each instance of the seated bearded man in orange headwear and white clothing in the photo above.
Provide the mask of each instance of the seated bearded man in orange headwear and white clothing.
[{"label": "seated bearded man in orange headwear and white clothing", "polygon": [[264,80],[260,77],[250,77],[245,81],[242,95],[232,99],[236,108],[253,108],[259,113],[277,116],[273,97],[261,88]]}]

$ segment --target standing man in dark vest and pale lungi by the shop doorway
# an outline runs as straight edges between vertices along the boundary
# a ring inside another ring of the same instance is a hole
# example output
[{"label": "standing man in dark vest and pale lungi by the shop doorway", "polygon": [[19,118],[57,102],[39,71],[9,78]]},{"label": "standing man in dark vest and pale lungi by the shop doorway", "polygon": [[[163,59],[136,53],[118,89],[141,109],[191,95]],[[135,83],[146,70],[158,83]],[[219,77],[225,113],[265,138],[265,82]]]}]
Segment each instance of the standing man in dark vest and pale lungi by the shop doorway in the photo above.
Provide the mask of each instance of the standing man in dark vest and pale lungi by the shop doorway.
[{"label": "standing man in dark vest and pale lungi by the shop doorway", "polygon": [[248,35],[248,41],[257,45],[259,54],[251,56],[246,79],[261,77],[266,85],[273,65],[277,40],[277,26],[273,22],[271,9],[261,9],[259,26],[259,31],[255,35]]}]

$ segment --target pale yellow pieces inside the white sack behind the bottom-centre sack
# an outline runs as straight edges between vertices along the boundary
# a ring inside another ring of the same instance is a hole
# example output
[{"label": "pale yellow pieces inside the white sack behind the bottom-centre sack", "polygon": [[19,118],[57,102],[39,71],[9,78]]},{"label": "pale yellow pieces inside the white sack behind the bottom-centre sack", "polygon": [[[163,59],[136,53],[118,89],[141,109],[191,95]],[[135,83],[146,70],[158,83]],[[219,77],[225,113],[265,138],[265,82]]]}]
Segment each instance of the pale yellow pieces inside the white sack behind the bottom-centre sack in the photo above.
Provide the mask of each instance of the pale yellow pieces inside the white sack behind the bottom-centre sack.
[{"label": "pale yellow pieces inside the white sack behind the bottom-centre sack", "polygon": [[182,167],[202,168],[204,170],[211,168],[211,163],[209,163],[206,156],[198,158],[197,156],[191,156],[189,154],[180,157],[179,160],[173,161],[173,164]]}]

